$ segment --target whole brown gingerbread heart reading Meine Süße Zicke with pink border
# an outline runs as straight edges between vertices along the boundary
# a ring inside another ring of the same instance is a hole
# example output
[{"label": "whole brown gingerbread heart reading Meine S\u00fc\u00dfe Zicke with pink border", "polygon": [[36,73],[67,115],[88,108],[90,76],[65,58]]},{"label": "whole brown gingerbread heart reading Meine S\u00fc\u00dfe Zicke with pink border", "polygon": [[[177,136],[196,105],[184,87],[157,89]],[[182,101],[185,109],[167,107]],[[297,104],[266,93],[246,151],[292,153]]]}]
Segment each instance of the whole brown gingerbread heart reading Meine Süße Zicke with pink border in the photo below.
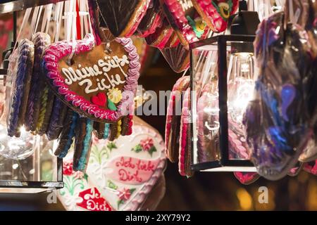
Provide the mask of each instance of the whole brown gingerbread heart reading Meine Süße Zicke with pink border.
[{"label": "whole brown gingerbread heart reading Meine S\u00fc\u00dfe Zicke with pink border", "polygon": [[80,115],[99,122],[117,122],[128,115],[139,78],[139,56],[131,39],[95,46],[92,34],[72,44],[49,46],[43,69],[54,92]]}]

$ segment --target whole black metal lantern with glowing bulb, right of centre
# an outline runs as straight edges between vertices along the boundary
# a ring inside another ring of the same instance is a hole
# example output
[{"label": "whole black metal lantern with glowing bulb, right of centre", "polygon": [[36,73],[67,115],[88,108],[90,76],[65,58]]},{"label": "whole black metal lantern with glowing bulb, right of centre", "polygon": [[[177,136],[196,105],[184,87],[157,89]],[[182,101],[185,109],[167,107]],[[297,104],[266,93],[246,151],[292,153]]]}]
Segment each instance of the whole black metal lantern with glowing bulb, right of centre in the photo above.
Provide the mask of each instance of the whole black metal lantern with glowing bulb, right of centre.
[{"label": "whole black metal lantern with glowing bulb, right of centre", "polygon": [[192,75],[192,169],[256,172],[244,136],[243,116],[253,98],[254,47],[259,15],[229,18],[227,33],[190,44]]}]

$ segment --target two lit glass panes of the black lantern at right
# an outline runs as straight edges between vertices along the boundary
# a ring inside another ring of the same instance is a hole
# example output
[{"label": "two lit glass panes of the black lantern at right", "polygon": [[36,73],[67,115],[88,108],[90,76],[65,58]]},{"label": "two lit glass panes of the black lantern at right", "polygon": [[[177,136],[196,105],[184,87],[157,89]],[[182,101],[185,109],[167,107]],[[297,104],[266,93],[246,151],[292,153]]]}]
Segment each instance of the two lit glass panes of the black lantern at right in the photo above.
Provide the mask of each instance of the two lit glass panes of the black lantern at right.
[{"label": "two lit glass panes of the black lantern at right", "polygon": [[[227,42],[229,160],[249,160],[243,114],[253,97],[254,56],[251,42]],[[218,45],[192,49],[193,164],[221,160]],[[223,171],[223,168],[220,169]],[[241,170],[237,169],[237,171]],[[232,171],[232,169],[230,169]],[[253,170],[252,170],[253,171]]]}]

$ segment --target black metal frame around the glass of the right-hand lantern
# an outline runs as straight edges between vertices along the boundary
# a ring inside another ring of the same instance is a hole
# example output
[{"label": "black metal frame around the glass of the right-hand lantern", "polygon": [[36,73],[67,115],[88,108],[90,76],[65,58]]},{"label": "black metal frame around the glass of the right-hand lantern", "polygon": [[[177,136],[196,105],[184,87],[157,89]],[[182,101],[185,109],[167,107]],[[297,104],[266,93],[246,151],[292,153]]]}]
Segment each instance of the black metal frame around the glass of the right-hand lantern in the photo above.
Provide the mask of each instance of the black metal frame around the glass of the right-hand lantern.
[{"label": "black metal frame around the glass of the right-hand lantern", "polygon": [[[191,89],[193,89],[194,83],[194,62],[193,51],[203,46],[216,46],[218,50],[218,93],[219,93],[219,150],[220,160],[214,160],[210,162],[197,162],[198,149],[197,149],[197,137],[192,137],[192,170],[205,171],[205,172],[256,172],[256,168],[250,160],[231,160],[229,158],[229,143],[228,143],[228,42],[234,41],[237,43],[250,42],[255,40],[254,35],[218,35],[209,39],[189,44],[190,51],[190,74],[191,74]],[[197,104],[196,96],[192,95],[192,105]],[[192,113],[193,107],[191,105]],[[194,122],[190,124],[192,134],[196,134],[194,129]]]}]

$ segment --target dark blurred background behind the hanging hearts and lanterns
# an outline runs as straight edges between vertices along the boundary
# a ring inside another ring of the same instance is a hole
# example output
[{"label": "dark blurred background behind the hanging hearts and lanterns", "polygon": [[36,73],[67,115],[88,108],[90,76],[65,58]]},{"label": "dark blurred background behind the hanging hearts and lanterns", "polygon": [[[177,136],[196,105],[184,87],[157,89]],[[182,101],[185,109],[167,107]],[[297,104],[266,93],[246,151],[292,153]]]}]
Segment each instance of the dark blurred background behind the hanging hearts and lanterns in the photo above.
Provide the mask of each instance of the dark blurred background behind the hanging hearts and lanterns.
[{"label": "dark blurred background behind the hanging hearts and lanterns", "polygon": [[[0,56],[11,45],[12,35],[12,15],[0,15]],[[182,74],[170,70],[156,49],[150,49],[146,58],[139,84],[157,93],[171,90]],[[163,136],[165,116],[141,118]],[[187,179],[178,174],[177,164],[168,162],[165,176],[166,194],[157,210],[317,210],[317,179],[306,172],[274,182],[259,179],[250,186],[243,186],[232,173],[197,173]],[[268,204],[259,203],[261,186],[269,190]],[[47,195],[0,194],[0,210],[64,210],[59,202],[48,204]]]}]

